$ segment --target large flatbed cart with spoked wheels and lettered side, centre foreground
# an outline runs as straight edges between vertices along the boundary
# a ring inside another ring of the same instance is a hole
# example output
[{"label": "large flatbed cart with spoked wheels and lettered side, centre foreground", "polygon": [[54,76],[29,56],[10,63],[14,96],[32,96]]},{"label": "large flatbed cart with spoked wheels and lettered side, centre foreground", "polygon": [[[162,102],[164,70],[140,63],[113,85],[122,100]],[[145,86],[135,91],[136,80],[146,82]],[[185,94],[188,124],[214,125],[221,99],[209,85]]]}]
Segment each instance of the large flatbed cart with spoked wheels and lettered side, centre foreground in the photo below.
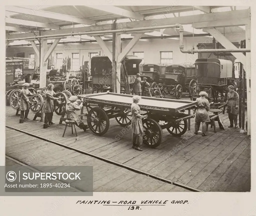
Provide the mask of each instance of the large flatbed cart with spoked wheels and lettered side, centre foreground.
[{"label": "large flatbed cart with spoked wheels and lettered side, centre foreground", "polygon": [[[108,131],[110,118],[115,118],[122,126],[131,123],[133,95],[104,92],[78,97],[84,101],[83,105],[88,112],[87,124],[95,135],[103,136]],[[194,114],[190,114],[190,109],[193,109],[195,102],[142,97],[139,106],[141,111],[148,115],[148,118],[142,121],[145,132],[143,143],[156,148],[162,142],[163,129],[167,129],[173,136],[185,134],[188,121],[194,117]],[[83,109],[81,115],[84,115]],[[185,114],[185,110],[188,110],[189,114]]]}]

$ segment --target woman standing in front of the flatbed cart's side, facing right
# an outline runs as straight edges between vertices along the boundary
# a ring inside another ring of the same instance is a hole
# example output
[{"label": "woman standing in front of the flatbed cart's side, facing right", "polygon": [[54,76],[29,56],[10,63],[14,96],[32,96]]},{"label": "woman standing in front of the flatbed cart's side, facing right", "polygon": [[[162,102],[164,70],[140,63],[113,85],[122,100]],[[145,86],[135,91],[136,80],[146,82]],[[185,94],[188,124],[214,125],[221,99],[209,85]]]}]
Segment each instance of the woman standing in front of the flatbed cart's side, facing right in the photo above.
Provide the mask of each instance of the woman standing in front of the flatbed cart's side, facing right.
[{"label": "woman standing in front of the flatbed cart's side, facing right", "polygon": [[142,126],[142,119],[147,118],[147,115],[140,114],[140,107],[138,106],[138,102],[140,101],[141,97],[138,95],[133,96],[132,100],[133,103],[131,105],[132,111],[132,148],[142,151],[142,140],[143,140],[143,126]]}]

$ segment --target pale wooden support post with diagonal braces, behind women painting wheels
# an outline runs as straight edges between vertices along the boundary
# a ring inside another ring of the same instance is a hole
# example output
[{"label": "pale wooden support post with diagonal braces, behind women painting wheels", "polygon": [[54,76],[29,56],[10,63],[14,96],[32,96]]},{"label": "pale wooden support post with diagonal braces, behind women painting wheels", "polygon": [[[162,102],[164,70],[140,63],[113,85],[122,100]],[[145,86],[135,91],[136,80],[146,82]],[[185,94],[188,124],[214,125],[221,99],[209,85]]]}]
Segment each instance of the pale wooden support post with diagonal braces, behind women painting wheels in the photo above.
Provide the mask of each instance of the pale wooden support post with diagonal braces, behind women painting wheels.
[{"label": "pale wooden support post with diagonal braces, behind women painting wheels", "polygon": [[39,88],[46,87],[46,71],[47,71],[47,62],[44,61],[45,54],[47,53],[47,39],[41,40],[41,52],[40,52],[40,86]]}]

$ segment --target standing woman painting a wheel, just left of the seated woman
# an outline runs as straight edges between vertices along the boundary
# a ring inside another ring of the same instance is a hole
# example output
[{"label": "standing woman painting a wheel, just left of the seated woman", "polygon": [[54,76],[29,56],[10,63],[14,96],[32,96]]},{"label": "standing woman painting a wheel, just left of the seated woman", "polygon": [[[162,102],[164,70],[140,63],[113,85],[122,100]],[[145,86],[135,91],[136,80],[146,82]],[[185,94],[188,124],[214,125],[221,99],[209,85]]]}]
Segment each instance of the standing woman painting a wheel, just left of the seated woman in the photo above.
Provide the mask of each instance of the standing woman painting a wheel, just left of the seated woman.
[{"label": "standing woman painting a wheel, just left of the seated woman", "polygon": [[[45,94],[45,103],[43,106],[43,113],[45,113],[45,125],[54,125],[54,123],[52,122],[52,116],[53,116],[53,112],[54,112],[54,100],[57,100],[59,98],[55,98],[55,92],[53,91],[54,85],[52,83],[50,83],[47,86],[47,91]],[[44,127],[47,128],[47,127]]]}]

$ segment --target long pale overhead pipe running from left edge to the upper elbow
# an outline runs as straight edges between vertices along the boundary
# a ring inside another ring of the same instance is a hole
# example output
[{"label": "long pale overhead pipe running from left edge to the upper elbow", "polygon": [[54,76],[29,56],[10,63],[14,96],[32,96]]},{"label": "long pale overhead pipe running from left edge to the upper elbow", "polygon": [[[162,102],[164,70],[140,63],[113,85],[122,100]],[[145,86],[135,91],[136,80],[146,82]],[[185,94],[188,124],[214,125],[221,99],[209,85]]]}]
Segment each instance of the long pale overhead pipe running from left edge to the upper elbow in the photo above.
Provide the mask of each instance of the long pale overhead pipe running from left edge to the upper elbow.
[{"label": "long pale overhead pipe running from left edge to the upper elbow", "polygon": [[38,38],[50,38],[50,37],[65,37],[65,36],[76,36],[76,35],[95,35],[95,34],[104,34],[104,33],[134,33],[136,31],[143,31],[143,30],[154,30],[154,29],[168,29],[168,28],[179,28],[183,31],[183,26],[180,24],[175,25],[165,25],[165,26],[156,26],[156,27],[138,27],[138,28],[130,28],[130,29],[116,29],[116,30],[103,30],[103,31],[88,31],[88,32],[78,32],[74,33],[73,31],[68,34],[52,34],[52,35],[42,35],[34,37],[25,37],[25,38],[16,38],[16,39],[6,39],[6,41],[20,41],[20,40],[29,40],[29,39],[38,39]]}]

